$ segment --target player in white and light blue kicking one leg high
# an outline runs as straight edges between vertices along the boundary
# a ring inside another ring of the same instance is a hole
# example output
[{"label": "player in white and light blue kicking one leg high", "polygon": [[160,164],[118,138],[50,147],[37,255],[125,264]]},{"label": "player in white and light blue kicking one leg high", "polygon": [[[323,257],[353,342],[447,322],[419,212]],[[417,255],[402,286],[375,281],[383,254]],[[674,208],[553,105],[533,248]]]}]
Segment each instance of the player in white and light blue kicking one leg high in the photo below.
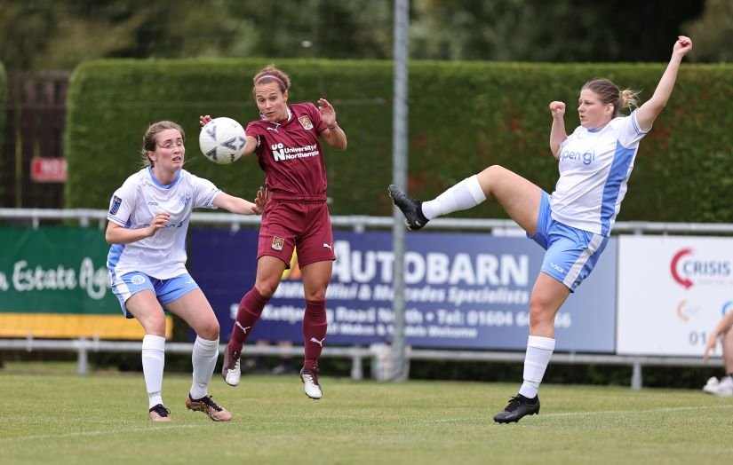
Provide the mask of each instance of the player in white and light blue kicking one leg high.
[{"label": "player in white and light blue kicking one leg high", "polygon": [[539,413],[539,383],[555,347],[555,315],[606,247],[641,138],[665,107],[682,57],[690,50],[689,37],[679,36],[654,95],[629,116],[620,116],[619,111],[635,106],[636,92],[620,91],[607,79],[588,81],[581,88],[580,126],[570,136],[563,119],[565,103],[550,103],[550,150],[560,170],[552,195],[498,165],[467,177],[432,201],[413,199],[397,186],[389,186],[411,230],[435,217],[470,209],[493,195],[528,237],[546,249],[530,296],[524,382],[494,421],[518,422],[524,415]]}]

